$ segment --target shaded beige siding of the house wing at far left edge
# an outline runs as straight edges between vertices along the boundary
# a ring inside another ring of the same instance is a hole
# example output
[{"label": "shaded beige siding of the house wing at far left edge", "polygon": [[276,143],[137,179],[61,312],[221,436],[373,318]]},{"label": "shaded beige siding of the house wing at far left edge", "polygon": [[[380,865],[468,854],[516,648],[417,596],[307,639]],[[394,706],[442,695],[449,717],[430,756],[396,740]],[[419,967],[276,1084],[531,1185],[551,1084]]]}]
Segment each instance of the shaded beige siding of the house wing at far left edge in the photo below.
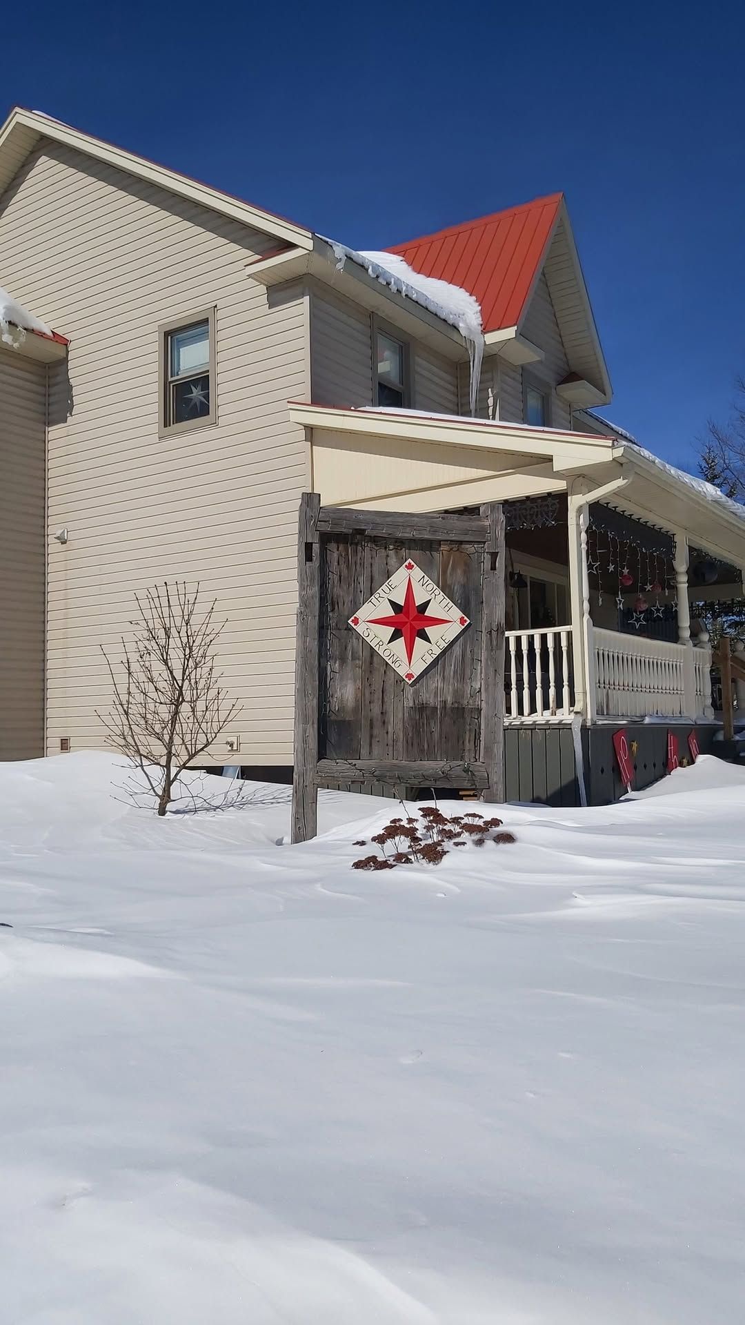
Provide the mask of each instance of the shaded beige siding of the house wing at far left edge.
[{"label": "shaded beige siding of the house wing at far left edge", "polygon": [[0,759],[44,754],[46,370],[0,347]]}]

